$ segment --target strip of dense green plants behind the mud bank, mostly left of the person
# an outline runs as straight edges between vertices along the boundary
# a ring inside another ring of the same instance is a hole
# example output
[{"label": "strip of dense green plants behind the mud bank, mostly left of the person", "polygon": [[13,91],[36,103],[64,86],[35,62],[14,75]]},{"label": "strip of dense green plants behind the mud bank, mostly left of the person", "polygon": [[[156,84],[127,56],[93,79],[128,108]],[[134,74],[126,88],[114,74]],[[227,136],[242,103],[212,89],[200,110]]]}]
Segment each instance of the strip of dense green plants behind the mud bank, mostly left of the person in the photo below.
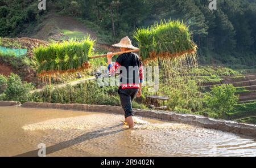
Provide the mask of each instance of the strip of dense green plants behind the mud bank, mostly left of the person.
[{"label": "strip of dense green plants behind the mud bank, mostly left of the person", "polygon": [[[33,93],[32,100],[60,104],[121,105],[117,87],[99,87],[96,81],[55,89],[47,85],[43,91]],[[133,106],[145,108],[136,102],[133,102]]]}]

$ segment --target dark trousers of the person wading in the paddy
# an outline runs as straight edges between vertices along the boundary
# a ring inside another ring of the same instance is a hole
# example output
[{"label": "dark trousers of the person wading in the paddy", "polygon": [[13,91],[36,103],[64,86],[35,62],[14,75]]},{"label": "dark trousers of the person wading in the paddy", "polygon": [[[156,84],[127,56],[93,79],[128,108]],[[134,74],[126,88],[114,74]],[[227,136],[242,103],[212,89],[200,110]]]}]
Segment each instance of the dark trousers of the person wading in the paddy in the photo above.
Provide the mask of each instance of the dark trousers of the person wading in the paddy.
[{"label": "dark trousers of the person wading in the paddy", "polygon": [[133,107],[131,106],[131,101],[137,95],[139,89],[118,89],[118,94],[120,97],[121,105],[123,111],[125,111],[125,118],[134,116]]}]

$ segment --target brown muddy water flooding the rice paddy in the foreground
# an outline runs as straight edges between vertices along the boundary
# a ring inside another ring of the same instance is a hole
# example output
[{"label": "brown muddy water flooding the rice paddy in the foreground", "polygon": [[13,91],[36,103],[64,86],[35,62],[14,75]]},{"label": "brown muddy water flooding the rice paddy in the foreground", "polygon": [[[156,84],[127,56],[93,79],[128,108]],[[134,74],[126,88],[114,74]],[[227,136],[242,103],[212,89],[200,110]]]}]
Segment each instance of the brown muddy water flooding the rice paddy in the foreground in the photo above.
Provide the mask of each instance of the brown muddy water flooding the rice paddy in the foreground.
[{"label": "brown muddy water flooding the rice paddy in the foreground", "polygon": [[233,133],[122,115],[0,107],[0,156],[256,156],[256,141]]}]

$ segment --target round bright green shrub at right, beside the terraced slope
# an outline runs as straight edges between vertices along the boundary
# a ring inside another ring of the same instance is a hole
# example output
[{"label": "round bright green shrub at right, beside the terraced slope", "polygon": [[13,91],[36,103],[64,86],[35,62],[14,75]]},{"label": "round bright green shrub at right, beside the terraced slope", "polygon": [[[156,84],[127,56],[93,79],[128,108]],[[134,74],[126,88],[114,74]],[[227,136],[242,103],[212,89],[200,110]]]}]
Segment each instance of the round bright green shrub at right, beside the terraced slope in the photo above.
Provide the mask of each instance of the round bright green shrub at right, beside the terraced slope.
[{"label": "round bright green shrub at right, beside the terraced slope", "polygon": [[232,84],[216,85],[205,94],[205,113],[213,118],[226,118],[237,104],[238,96]]}]

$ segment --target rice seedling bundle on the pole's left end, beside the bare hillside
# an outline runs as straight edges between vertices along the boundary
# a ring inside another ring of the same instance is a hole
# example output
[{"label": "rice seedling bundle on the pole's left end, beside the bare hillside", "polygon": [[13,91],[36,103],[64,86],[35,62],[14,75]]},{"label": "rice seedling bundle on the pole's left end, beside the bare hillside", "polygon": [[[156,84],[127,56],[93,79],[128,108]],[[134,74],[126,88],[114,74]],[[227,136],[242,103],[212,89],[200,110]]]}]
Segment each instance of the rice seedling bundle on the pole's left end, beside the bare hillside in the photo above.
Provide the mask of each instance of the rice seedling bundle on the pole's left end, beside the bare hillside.
[{"label": "rice seedling bundle on the pole's left end, beside the bare hillside", "polygon": [[40,46],[35,49],[35,57],[40,64],[38,78],[57,77],[56,74],[65,74],[90,68],[89,55],[95,41],[90,37],[83,41],[71,40],[54,42],[48,47]]}]

